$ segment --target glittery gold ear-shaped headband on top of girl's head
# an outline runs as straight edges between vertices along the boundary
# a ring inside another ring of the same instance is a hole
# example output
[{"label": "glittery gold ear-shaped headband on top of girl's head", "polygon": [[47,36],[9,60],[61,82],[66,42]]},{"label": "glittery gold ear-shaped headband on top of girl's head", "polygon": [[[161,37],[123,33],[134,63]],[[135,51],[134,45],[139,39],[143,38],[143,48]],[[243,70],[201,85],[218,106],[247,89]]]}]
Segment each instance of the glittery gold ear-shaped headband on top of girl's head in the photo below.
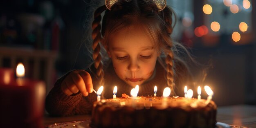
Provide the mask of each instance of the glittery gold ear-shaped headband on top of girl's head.
[{"label": "glittery gold ear-shaped headband on top of girl's head", "polygon": [[[107,7],[108,10],[111,10],[111,7],[117,3],[119,0],[105,0],[105,5]],[[131,0],[125,0],[126,2],[130,2]],[[150,1],[150,0],[145,0],[146,2]],[[155,5],[158,8],[158,11],[162,11],[164,10],[164,8],[166,7],[166,0],[152,0]]]}]

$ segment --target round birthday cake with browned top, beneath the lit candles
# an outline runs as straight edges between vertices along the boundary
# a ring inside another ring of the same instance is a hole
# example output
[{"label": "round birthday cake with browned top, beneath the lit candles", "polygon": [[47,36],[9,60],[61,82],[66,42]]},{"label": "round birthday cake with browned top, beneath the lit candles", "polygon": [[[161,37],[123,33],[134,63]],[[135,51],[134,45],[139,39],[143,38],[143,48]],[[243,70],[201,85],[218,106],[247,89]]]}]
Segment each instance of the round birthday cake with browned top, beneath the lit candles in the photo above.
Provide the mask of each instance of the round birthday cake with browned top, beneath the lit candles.
[{"label": "round birthday cake with browned top, beneath the lit candles", "polygon": [[94,103],[92,128],[215,128],[213,101],[174,97],[128,97]]}]

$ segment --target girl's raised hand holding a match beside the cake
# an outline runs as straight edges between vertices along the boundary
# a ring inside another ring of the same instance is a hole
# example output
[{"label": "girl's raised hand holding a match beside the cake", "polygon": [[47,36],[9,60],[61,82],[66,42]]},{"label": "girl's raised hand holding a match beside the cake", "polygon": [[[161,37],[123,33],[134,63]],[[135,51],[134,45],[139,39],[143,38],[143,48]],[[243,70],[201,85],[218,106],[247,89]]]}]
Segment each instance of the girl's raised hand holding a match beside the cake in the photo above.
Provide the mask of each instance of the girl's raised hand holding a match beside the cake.
[{"label": "girl's raised hand holding a match beside the cake", "polygon": [[93,90],[92,78],[85,70],[72,71],[62,81],[61,90],[67,95],[80,91],[86,97]]}]

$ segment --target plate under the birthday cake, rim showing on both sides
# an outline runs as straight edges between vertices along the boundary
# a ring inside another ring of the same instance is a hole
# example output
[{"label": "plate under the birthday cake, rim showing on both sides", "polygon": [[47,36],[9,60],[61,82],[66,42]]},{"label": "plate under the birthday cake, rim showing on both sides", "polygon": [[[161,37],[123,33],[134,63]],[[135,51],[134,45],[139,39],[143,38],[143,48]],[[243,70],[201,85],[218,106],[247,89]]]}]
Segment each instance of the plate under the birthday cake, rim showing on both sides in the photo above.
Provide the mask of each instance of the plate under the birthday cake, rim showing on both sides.
[{"label": "plate under the birthday cake, rim showing on both sides", "polygon": [[[89,126],[91,120],[85,120],[85,121],[72,121],[72,122],[65,122],[65,123],[55,123],[49,126],[46,126],[45,128],[91,128]],[[217,122],[216,128],[248,128],[243,126],[234,126],[229,125],[221,122]]]}]

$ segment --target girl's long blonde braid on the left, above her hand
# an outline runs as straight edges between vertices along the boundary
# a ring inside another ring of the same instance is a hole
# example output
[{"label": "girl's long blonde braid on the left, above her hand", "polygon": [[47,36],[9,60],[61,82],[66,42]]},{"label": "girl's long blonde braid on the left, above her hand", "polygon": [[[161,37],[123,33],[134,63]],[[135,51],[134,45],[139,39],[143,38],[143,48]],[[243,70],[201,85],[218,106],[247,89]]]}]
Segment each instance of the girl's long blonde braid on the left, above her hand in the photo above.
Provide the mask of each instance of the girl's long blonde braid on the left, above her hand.
[{"label": "girl's long blonde braid on the left, above her hand", "polygon": [[96,68],[96,74],[99,78],[99,85],[104,85],[104,72],[103,72],[103,64],[101,63],[101,13],[106,10],[106,6],[103,5],[95,10],[94,12],[94,20],[92,22],[92,49],[93,54],[92,58],[94,60],[94,67]]}]

